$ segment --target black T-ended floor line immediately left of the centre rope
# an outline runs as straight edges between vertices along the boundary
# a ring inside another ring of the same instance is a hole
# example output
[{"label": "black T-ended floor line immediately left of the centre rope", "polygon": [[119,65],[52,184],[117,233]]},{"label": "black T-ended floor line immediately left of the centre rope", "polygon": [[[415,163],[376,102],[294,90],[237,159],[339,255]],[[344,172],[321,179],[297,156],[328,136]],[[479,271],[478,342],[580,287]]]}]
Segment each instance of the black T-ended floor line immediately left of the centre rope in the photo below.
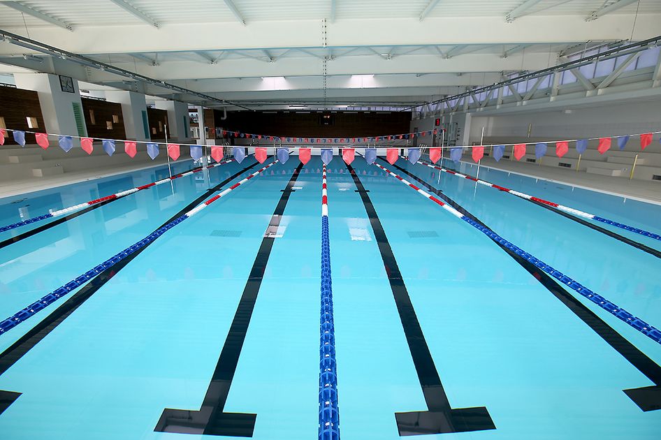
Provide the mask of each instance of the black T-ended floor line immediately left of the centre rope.
[{"label": "black T-ended floor line immediately left of the centre rope", "polygon": [[164,409],[154,431],[177,432],[180,434],[225,435],[231,437],[252,437],[255,428],[256,414],[226,413],[225,402],[232,386],[239,356],[245,342],[245,337],[255,308],[261,281],[264,277],[266,264],[275,242],[274,230],[277,230],[284,209],[289,201],[296,179],[303,168],[299,163],[289,179],[266,228],[259,251],[252,264],[245,288],[236,308],[232,325],[229,328],[225,344],[216,363],[209,388],[202,401],[199,411],[188,409]]}]

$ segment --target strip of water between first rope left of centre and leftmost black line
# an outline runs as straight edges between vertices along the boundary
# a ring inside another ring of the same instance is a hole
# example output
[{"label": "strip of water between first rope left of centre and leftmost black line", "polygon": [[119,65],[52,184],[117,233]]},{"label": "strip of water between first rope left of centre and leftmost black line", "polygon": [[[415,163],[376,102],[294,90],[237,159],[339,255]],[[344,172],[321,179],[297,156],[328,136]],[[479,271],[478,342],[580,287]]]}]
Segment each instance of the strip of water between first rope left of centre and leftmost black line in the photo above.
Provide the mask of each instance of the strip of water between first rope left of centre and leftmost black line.
[{"label": "strip of water between first rope left of centre and leftmost black line", "polygon": [[[212,186],[216,185],[252,165],[256,166],[254,159],[240,165],[228,163],[213,168],[210,182]],[[249,172],[252,171],[245,170],[245,173]],[[169,185],[166,191],[161,191],[160,187],[140,191],[3,249],[0,252],[0,288],[3,291],[0,314],[14,314],[150,234],[166,219],[207,192],[208,186],[203,179],[196,177],[177,179],[174,195]],[[237,176],[228,183],[240,178]],[[0,339],[0,349],[8,346],[8,340],[12,338]]]}]

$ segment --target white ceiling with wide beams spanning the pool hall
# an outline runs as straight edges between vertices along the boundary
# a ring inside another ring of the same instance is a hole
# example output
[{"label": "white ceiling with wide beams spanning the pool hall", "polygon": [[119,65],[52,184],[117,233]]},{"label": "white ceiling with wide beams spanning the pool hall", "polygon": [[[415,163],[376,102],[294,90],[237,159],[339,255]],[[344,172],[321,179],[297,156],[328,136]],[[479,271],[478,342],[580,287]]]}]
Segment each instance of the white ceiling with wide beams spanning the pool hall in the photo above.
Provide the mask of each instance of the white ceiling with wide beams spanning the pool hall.
[{"label": "white ceiling with wide beams spanning the pool hall", "polygon": [[[660,0],[0,0],[0,29],[252,108],[421,103],[650,38],[660,22]],[[0,72],[194,101],[25,54],[43,57],[0,43]]]}]

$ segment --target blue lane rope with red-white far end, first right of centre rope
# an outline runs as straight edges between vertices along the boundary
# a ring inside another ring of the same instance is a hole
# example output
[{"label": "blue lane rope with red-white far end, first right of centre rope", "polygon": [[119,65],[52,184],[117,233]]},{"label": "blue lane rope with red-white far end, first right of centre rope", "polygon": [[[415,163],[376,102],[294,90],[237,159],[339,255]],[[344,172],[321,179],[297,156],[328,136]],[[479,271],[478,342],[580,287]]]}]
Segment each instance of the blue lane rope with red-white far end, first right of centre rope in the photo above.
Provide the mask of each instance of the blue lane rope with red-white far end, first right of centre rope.
[{"label": "blue lane rope with red-white far end, first right of centre rope", "polygon": [[446,203],[443,203],[441,200],[438,200],[434,196],[430,195],[430,193],[423,191],[422,189],[418,188],[411,182],[407,181],[403,177],[400,177],[399,175],[396,175],[393,173],[391,170],[388,170],[384,166],[379,165],[378,163],[375,163],[375,166],[381,168],[384,170],[386,173],[391,175],[392,177],[395,177],[398,179],[400,182],[403,184],[406,184],[407,186],[411,187],[412,189],[415,189],[418,193],[420,193],[422,196],[425,196],[426,198],[432,200],[433,202],[437,203],[440,205],[444,210],[452,214],[454,217],[457,217],[458,219],[461,219],[465,221],[466,223],[470,224],[477,230],[479,230],[481,233],[484,233],[487,237],[491,238],[491,240],[494,240],[500,244],[502,244],[504,247],[507,247],[507,249],[510,249],[511,251],[514,251],[515,254],[518,256],[521,256],[522,258],[525,258],[525,260],[530,261],[530,263],[534,264],[535,266],[539,267],[540,270],[544,270],[547,274],[551,275],[551,277],[558,279],[562,284],[565,284],[565,286],[569,286],[573,291],[576,291],[580,295],[582,295],[585,298],[588,298],[588,300],[594,302],[596,305],[601,307],[602,309],[608,311],[610,314],[616,316],[620,321],[623,321],[627,323],[628,325],[631,325],[633,328],[641,332],[643,335],[646,335],[653,341],[661,344],[661,330],[658,328],[653,327],[652,325],[646,323],[643,321],[641,318],[638,318],[637,316],[634,316],[630,314],[628,311],[623,309],[622,307],[619,307],[618,305],[614,304],[613,302],[606,300],[606,298],[602,297],[601,295],[598,295],[597,293],[591,291],[590,289],[586,288],[586,286],[583,286],[580,284],[578,281],[575,281],[574,279],[568,277],[567,275],[563,274],[559,270],[555,270],[555,268],[551,267],[550,265],[547,265],[544,263],[544,261],[539,260],[538,258],[535,258],[535,256],[532,256],[531,254],[528,254],[528,252],[524,251],[520,247],[517,247],[514,244],[511,244],[511,242],[505,240],[504,238],[500,237],[500,235],[497,235],[493,230],[490,228],[487,228],[486,226],[481,226],[481,224],[477,223],[477,221],[474,221],[470,219],[469,217],[466,217],[465,215],[461,214],[458,210],[454,209],[450,205],[447,205]]}]

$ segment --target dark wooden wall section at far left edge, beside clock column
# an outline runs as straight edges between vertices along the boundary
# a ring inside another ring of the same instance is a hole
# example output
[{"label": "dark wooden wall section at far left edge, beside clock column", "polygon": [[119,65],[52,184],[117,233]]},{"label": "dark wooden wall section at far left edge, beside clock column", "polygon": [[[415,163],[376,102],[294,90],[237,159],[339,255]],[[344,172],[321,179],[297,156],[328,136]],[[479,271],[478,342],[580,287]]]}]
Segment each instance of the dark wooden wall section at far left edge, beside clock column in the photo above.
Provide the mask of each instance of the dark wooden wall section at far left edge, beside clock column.
[{"label": "dark wooden wall section at far left edge, beside clock column", "polygon": [[[13,130],[45,131],[41,105],[36,91],[16,89],[15,87],[0,86],[0,117],[5,121],[5,126]],[[37,119],[37,129],[30,129],[27,118]],[[11,133],[5,140],[5,145],[16,145]],[[25,136],[28,143],[35,143],[34,135]]]}]

